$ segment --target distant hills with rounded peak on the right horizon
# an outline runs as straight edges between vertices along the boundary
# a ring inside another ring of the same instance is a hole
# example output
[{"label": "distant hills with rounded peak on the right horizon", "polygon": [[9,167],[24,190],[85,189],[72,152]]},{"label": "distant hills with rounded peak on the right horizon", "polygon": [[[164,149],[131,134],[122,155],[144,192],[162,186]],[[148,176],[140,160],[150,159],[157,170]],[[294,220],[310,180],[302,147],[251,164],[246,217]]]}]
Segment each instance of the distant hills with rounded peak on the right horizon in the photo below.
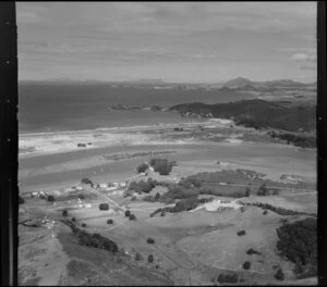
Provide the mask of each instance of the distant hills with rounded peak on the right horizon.
[{"label": "distant hills with rounded peak on the right horizon", "polygon": [[303,88],[313,84],[303,84],[293,79],[276,79],[254,82],[249,78],[238,77],[225,83],[223,88],[229,89],[269,89],[269,88]]}]

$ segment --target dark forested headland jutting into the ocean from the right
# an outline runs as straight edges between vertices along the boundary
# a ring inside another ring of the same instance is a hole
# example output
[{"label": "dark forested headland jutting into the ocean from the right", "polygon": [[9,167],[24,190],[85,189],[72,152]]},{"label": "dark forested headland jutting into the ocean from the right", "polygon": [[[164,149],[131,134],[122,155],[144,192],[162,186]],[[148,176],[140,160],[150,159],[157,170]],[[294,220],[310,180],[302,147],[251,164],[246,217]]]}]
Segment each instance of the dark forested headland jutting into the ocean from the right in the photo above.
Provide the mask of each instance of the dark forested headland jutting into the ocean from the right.
[{"label": "dark forested headland jutting into the ocean from the right", "polygon": [[289,132],[316,127],[316,109],[314,105],[283,107],[265,100],[241,100],[228,103],[205,104],[193,102],[170,108],[184,116],[230,118],[235,124],[255,128],[272,127]]}]

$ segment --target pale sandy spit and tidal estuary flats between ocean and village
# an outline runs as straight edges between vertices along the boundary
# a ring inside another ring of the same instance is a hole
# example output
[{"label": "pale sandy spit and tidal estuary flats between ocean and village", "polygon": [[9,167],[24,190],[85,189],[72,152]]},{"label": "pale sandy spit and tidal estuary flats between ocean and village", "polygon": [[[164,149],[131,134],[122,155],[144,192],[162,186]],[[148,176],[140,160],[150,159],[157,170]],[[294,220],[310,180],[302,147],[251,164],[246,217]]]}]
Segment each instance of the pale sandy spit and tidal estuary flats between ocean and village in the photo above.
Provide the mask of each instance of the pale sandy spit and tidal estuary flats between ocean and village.
[{"label": "pale sandy spit and tidal estuary flats between ocean and village", "polygon": [[[250,169],[275,180],[286,173],[315,178],[314,150],[246,141],[242,135],[257,132],[230,127],[230,124],[226,120],[207,120],[23,134],[19,157],[21,191],[75,185],[83,177],[98,183],[124,180],[135,175],[137,165],[154,157],[178,161],[173,169],[177,177],[221,169]],[[213,140],[208,133],[220,135],[219,140]],[[78,147],[78,144],[85,146]],[[227,165],[221,167],[217,161]]]}]

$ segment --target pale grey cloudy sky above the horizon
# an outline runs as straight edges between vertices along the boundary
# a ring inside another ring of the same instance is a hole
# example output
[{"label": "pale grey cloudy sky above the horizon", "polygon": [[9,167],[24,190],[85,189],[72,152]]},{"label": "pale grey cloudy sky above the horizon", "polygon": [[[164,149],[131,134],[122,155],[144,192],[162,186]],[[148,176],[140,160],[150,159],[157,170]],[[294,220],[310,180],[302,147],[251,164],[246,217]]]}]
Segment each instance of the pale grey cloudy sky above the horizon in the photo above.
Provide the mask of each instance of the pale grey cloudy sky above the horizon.
[{"label": "pale grey cloudy sky above the horizon", "polygon": [[316,2],[16,2],[20,80],[316,80]]}]

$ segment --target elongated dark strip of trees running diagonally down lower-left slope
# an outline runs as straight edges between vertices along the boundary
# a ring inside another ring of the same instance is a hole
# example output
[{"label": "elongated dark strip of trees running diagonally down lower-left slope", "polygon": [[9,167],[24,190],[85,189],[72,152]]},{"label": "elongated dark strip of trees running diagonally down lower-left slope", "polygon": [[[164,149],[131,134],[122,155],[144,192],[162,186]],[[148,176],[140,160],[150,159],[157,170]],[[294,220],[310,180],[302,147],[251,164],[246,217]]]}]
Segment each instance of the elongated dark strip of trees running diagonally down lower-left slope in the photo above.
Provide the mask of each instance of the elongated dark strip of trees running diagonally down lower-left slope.
[{"label": "elongated dark strip of trees running diagonally down lower-left slope", "polygon": [[62,222],[72,229],[73,235],[77,238],[78,245],[105,249],[112,253],[117,253],[119,251],[117,244],[109,238],[104,237],[100,234],[89,234],[82,230],[70,221],[63,220]]}]

